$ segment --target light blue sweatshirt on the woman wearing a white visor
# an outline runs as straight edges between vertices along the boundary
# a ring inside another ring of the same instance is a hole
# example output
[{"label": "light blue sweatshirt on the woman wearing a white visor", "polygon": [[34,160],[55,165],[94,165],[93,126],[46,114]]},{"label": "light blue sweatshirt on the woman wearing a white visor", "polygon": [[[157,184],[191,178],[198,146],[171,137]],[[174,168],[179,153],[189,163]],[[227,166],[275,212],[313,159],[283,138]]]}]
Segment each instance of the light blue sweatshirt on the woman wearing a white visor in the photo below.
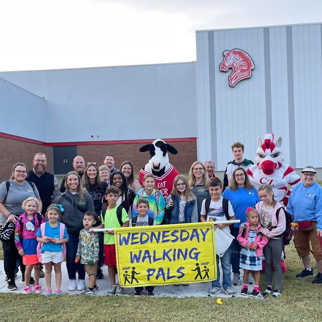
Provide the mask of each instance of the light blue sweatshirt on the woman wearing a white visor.
[{"label": "light blue sweatshirt on the woman wearing a white visor", "polygon": [[286,210],[296,222],[312,220],[322,230],[322,187],[314,182],[310,187],[296,185],[289,195]]}]

